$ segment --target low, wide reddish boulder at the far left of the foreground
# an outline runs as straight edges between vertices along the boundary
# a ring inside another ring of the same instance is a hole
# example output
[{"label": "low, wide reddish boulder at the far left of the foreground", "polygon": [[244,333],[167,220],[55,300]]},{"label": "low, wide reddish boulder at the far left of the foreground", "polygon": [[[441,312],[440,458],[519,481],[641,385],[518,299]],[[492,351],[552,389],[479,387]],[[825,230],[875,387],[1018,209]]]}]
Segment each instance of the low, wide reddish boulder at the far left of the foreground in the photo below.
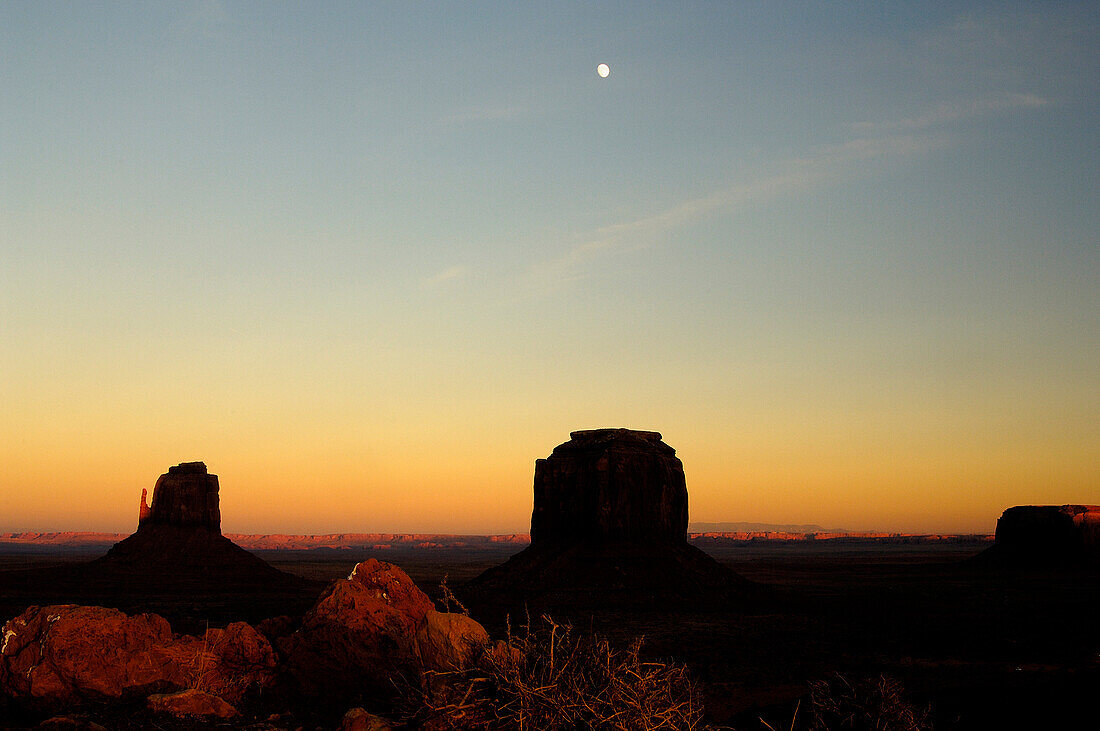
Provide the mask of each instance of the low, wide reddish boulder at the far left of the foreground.
[{"label": "low, wide reddish boulder at the far left of the foreground", "polygon": [[274,676],[271,644],[243,622],[195,638],[156,614],[55,605],[2,631],[0,693],[46,708],[195,687],[235,701]]}]

